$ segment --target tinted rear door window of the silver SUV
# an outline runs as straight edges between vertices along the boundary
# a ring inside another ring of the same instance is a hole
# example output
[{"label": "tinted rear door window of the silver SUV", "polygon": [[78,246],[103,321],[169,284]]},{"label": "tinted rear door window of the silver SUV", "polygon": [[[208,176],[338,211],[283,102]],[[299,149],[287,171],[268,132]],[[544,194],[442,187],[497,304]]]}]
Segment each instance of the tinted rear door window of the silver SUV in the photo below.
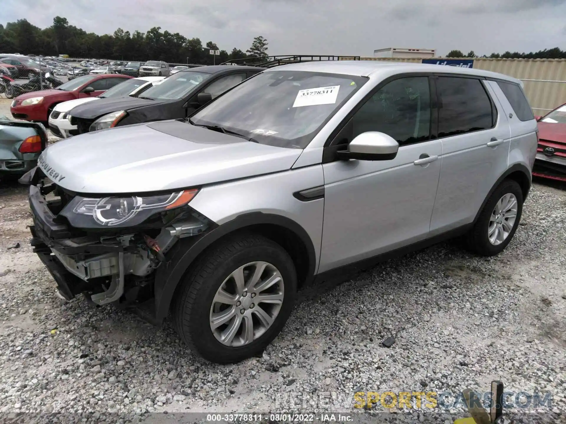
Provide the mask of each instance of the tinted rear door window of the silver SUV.
[{"label": "tinted rear door window of the silver SUV", "polygon": [[491,128],[490,98],[480,80],[459,77],[439,77],[438,136],[447,137]]}]

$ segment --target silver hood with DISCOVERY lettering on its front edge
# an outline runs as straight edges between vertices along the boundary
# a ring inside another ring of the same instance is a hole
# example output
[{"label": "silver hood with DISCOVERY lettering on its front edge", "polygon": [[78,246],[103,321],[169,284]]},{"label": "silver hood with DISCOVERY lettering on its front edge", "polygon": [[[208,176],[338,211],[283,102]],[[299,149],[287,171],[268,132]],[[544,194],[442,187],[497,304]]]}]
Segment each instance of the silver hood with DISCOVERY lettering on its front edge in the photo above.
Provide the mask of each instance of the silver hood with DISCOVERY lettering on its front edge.
[{"label": "silver hood with DISCOVERY lettering on its front edge", "polygon": [[172,191],[286,171],[301,153],[170,120],[62,140],[50,145],[39,163],[70,191],[118,194]]}]

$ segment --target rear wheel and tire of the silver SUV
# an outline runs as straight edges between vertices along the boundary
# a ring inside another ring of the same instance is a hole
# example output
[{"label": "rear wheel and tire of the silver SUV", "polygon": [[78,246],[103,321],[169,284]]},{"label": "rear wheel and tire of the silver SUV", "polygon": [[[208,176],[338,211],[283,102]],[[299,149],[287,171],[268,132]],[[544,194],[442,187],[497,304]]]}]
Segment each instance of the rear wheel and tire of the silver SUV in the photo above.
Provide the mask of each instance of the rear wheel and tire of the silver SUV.
[{"label": "rear wheel and tire of the silver SUV", "polygon": [[521,220],[523,192],[517,181],[504,180],[491,194],[468,234],[470,250],[494,256],[509,244]]}]

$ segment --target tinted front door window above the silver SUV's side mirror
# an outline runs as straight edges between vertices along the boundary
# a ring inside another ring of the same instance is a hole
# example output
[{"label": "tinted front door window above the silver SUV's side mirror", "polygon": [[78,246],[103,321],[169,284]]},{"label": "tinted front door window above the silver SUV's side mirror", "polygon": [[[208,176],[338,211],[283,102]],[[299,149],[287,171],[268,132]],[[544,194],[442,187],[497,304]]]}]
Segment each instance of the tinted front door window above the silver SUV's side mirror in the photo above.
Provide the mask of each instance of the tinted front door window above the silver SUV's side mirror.
[{"label": "tinted front door window above the silver SUV's side mirror", "polygon": [[428,77],[401,78],[380,88],[352,117],[353,137],[383,132],[400,145],[430,137]]}]

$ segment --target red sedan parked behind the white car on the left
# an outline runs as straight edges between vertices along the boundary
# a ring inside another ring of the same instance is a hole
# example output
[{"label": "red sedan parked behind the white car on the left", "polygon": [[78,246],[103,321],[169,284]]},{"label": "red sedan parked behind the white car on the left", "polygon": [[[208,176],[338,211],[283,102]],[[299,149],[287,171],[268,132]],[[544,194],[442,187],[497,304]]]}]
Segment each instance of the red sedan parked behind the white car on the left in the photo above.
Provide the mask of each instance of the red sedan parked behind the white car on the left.
[{"label": "red sedan parked behind the white car on the left", "polygon": [[97,97],[114,85],[129,79],[129,75],[84,75],[57,88],[20,94],[12,102],[10,112],[15,119],[47,124],[57,103],[82,97]]}]

